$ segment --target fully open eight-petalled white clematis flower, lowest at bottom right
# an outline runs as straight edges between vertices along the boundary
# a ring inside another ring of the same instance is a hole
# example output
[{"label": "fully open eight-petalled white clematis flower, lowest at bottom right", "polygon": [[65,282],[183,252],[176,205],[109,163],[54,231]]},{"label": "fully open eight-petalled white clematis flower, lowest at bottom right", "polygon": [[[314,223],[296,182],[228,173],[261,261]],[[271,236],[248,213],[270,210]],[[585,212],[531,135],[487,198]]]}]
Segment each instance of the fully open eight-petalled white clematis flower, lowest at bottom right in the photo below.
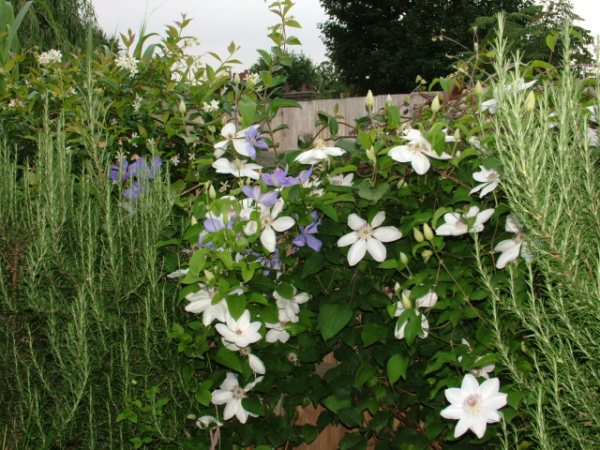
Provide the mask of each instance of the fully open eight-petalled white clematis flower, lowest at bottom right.
[{"label": "fully open eight-petalled white clematis flower, lowest at bottom right", "polygon": [[506,394],[499,392],[500,381],[491,378],[481,385],[470,373],[463,378],[460,388],[444,391],[450,406],[442,410],[444,419],[458,420],[454,437],[458,438],[471,430],[481,439],[488,423],[500,422],[498,410],[506,406]]}]

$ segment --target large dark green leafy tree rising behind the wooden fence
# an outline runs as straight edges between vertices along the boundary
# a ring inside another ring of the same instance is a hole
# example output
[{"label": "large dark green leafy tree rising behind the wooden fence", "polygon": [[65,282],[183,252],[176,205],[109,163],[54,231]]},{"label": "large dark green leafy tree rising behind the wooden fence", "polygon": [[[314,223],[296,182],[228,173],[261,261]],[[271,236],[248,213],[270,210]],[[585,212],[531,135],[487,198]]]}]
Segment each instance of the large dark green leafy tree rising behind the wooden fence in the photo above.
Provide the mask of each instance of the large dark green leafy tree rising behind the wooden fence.
[{"label": "large dark green leafy tree rising behind the wooden fence", "polygon": [[417,75],[431,80],[452,71],[446,54],[468,43],[477,17],[518,11],[530,0],[321,0],[328,56],[356,93],[407,92]]}]

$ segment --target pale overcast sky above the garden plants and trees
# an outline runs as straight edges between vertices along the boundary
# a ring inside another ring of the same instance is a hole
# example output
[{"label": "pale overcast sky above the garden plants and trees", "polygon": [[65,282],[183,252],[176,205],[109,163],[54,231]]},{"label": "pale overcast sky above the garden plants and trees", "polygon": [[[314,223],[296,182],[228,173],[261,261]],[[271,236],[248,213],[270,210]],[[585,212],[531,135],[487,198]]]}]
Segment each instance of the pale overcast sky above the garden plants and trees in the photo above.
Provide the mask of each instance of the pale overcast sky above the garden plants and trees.
[{"label": "pale overcast sky above the garden plants and trees", "polygon": [[[579,23],[600,35],[600,0],[572,0],[575,12],[584,19]],[[227,55],[227,46],[234,41],[241,48],[236,53],[248,68],[258,59],[256,49],[269,49],[267,28],[277,21],[269,12],[270,0],[92,0],[100,26],[109,34],[134,32],[144,20],[148,32],[164,34],[165,25],[181,19],[185,13],[192,18],[188,35],[200,39],[200,47],[191,53],[209,51]],[[318,24],[327,20],[319,0],[296,0],[291,11],[302,29],[291,34],[302,42],[302,51],[317,64],[326,60],[325,46],[320,39]]]}]

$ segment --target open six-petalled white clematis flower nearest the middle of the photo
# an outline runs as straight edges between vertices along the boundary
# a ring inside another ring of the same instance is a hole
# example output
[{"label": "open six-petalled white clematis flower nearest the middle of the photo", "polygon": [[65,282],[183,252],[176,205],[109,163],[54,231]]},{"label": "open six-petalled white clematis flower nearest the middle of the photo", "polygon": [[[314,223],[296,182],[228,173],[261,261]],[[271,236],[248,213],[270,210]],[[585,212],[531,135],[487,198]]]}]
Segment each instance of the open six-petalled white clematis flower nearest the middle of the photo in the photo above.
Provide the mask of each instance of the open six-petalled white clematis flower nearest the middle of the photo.
[{"label": "open six-petalled white clematis flower nearest the middle of the photo", "polygon": [[339,238],[337,246],[351,246],[348,251],[350,266],[358,264],[365,257],[366,252],[369,252],[377,262],[385,260],[387,251],[383,242],[397,241],[402,237],[402,233],[396,227],[380,227],[384,220],[384,211],[375,214],[371,224],[354,213],[348,216],[348,226],[353,231]]}]

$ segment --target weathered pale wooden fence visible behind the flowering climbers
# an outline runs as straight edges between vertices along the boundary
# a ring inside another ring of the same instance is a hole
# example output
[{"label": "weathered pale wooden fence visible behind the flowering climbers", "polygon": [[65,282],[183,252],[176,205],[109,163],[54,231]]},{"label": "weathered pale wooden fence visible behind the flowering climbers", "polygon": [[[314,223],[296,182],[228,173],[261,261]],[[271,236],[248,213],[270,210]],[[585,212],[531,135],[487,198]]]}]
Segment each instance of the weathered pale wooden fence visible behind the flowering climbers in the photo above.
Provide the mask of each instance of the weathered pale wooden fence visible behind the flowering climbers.
[{"label": "weathered pale wooden fence visible behind the flowering climbers", "polygon": [[[400,108],[403,116],[409,116],[413,108],[425,103],[425,99],[419,93],[392,95],[392,103]],[[374,109],[378,110],[385,105],[387,96],[375,97]],[[340,121],[339,136],[352,136],[355,120],[366,115],[365,97],[348,97],[332,100],[302,100],[300,108],[281,108],[274,119],[273,126],[286,124],[287,129],[278,131],[275,139],[279,144],[279,150],[293,150],[298,148],[298,138],[312,138],[316,132],[315,121],[317,114],[322,111],[333,115],[335,107],[338,107],[338,115],[343,119]],[[343,122],[343,123],[342,123]],[[345,125],[348,124],[348,125]],[[320,135],[321,139],[329,139],[329,130]]]}]

